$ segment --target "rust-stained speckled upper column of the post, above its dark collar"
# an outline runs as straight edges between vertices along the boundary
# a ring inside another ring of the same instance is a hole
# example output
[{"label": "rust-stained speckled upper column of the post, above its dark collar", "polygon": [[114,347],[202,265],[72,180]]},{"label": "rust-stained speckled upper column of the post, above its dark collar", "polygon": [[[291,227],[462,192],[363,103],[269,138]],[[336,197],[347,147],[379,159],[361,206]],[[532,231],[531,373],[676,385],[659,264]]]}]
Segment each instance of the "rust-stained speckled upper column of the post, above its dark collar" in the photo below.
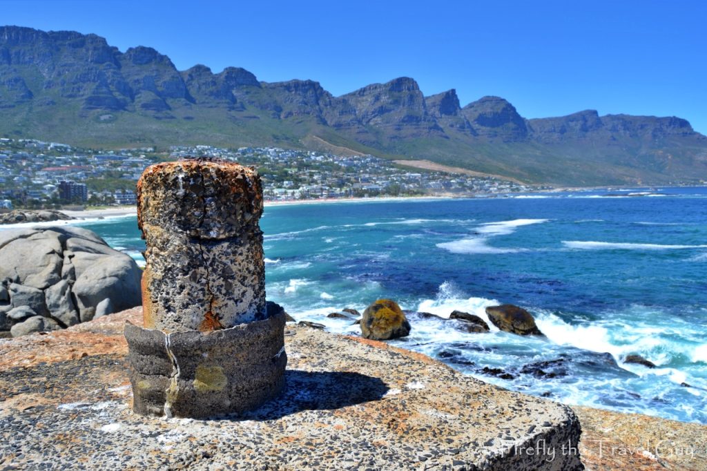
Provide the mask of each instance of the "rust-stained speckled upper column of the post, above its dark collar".
[{"label": "rust-stained speckled upper column of the post, above its dark collar", "polygon": [[144,171],[137,197],[147,245],[145,327],[209,331],[264,318],[263,202],[254,169],[158,163]]}]

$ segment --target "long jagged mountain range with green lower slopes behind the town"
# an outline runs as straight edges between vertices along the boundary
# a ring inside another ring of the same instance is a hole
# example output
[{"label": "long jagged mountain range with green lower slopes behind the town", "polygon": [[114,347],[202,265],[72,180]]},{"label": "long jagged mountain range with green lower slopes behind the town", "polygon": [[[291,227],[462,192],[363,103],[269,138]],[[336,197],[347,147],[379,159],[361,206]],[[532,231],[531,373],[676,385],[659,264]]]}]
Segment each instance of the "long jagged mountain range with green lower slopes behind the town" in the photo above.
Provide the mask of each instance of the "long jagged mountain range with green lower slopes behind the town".
[{"label": "long jagged mountain range with green lower slopes behind the town", "polygon": [[0,135],[371,153],[554,185],[707,180],[707,137],[679,117],[525,119],[503,98],[462,106],[455,90],[425,96],[407,77],[334,96],[316,81],[179,71],[151,47],[120,52],[98,35],[17,26],[0,27]]}]

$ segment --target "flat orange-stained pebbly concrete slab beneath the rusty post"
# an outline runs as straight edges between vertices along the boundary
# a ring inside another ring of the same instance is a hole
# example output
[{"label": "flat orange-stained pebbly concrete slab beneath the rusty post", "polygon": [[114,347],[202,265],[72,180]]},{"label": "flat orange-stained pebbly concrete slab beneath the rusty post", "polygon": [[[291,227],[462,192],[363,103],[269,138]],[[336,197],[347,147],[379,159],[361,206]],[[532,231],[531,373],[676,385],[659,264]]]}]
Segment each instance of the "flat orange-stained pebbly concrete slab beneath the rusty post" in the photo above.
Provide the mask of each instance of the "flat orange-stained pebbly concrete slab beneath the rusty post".
[{"label": "flat orange-stained pebbly concrete slab beneath the rusty post", "polygon": [[[139,416],[130,410],[122,332],[141,316],[134,308],[0,339],[0,468],[583,469],[580,424],[569,407],[382,342],[293,324],[286,388],[276,400],[240,417]],[[612,437],[604,438],[607,446]],[[592,469],[644,469],[590,455]],[[631,463],[670,467],[643,455]]]}]

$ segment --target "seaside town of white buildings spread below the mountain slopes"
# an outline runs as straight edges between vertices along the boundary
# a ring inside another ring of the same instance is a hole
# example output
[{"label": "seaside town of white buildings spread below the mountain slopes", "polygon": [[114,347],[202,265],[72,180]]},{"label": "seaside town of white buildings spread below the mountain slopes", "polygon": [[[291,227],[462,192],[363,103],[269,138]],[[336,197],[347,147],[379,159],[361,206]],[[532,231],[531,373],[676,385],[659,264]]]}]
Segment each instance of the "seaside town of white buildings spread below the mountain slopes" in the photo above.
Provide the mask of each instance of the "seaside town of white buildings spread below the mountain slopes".
[{"label": "seaside town of white buildings spread below the mountain slopes", "polygon": [[496,195],[543,189],[496,178],[402,168],[374,156],[269,147],[172,146],[160,151],[81,149],[36,139],[0,139],[0,207],[135,204],[143,170],[190,156],[254,165],[267,200]]}]

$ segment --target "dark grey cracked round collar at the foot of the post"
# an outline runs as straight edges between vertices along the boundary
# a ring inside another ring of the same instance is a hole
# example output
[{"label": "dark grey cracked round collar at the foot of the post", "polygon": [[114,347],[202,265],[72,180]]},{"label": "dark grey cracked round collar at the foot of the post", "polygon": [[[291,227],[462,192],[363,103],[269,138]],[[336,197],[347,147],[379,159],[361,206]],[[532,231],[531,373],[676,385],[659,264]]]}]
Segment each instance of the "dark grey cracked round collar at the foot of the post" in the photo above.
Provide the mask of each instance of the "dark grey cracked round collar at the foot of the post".
[{"label": "dark grey cracked round collar at the foot of the post", "polygon": [[133,410],[142,415],[214,417],[255,409],[284,387],[285,313],[213,332],[148,330],[126,322]]}]

